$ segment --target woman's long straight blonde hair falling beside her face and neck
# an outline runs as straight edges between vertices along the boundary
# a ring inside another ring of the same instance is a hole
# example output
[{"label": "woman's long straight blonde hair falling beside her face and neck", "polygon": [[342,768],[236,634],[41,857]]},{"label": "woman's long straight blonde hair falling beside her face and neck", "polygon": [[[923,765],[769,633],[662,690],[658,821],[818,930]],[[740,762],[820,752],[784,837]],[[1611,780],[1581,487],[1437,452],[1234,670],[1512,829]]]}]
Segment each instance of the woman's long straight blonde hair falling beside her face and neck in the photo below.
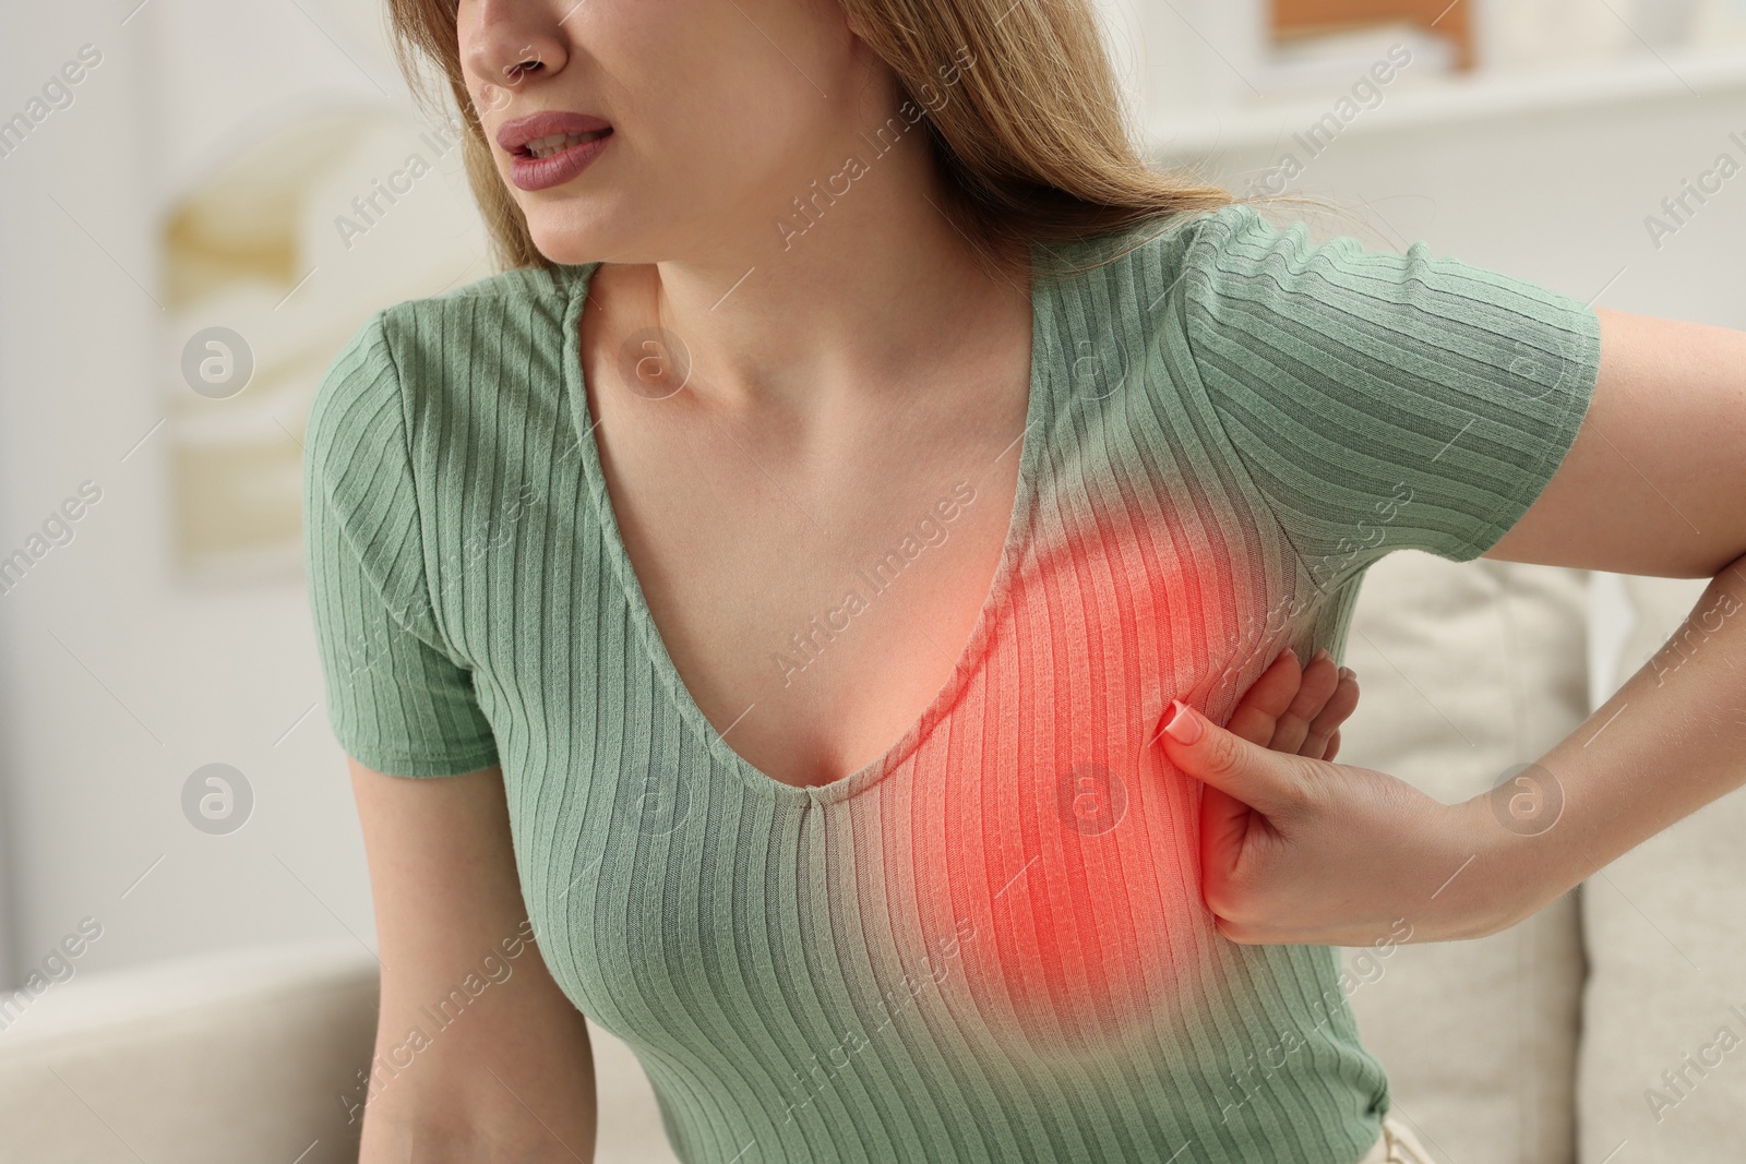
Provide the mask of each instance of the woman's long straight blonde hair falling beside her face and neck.
[{"label": "woman's long straight blonde hair falling beside her face and neck", "polygon": [[[925,126],[948,206],[985,267],[1145,223],[1177,220],[1238,197],[1189,175],[1147,166],[1090,0],[838,0],[856,31],[890,66],[908,115]],[[426,108],[424,66],[447,79],[464,124],[468,183],[501,269],[553,267],[505,188],[473,110],[452,0],[388,0],[395,56]],[[948,84],[950,82],[950,84]],[[950,92],[938,101],[941,86]],[[1138,246],[1133,239],[1128,250]],[[1119,257],[1109,253],[1090,265]]]}]

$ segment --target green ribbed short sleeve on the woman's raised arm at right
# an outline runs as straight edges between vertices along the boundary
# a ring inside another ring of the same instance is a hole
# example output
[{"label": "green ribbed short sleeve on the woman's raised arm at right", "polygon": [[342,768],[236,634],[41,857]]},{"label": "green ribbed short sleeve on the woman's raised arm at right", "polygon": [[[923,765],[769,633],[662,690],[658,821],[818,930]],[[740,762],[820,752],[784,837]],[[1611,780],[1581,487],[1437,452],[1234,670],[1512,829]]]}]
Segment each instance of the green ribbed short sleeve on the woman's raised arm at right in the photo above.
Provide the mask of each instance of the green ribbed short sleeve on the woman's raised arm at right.
[{"label": "green ribbed short sleeve on the woman's raised arm at right", "polygon": [[1233,452],[1318,585],[1393,550],[1467,562],[1550,482],[1599,319],[1524,279],[1233,204],[1182,251],[1182,326]]}]

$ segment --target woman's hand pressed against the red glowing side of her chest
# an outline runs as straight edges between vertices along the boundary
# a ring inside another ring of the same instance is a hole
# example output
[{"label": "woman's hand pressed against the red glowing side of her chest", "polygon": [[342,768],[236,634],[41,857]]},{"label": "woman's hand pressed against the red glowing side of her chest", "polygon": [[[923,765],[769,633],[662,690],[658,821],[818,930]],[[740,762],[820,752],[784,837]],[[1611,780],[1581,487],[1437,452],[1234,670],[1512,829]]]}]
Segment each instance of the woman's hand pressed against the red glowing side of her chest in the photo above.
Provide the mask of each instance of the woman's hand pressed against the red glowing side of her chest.
[{"label": "woman's hand pressed against the red glowing side of her chest", "polygon": [[1449,941],[1514,918],[1510,885],[1475,860],[1503,829],[1488,798],[1442,805],[1395,777],[1334,764],[1357,682],[1318,654],[1282,654],[1224,728],[1182,703],[1161,745],[1203,782],[1201,885],[1219,932],[1245,944]]}]

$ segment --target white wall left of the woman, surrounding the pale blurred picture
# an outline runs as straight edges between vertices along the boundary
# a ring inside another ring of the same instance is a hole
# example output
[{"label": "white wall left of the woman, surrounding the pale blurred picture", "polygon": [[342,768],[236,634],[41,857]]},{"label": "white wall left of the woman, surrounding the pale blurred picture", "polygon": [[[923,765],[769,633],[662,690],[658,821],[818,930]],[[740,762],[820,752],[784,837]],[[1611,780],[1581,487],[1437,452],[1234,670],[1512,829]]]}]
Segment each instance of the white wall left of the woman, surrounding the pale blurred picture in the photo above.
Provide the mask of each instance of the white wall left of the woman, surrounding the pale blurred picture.
[{"label": "white wall left of the woman, surrounding the pale blurred picture", "polygon": [[[309,208],[309,253],[327,265],[260,321],[313,326],[311,304],[361,319],[372,286],[393,302],[447,281],[409,260],[428,258],[431,237],[477,250],[456,229],[470,211],[454,157],[421,180],[417,209],[396,211],[368,246],[335,246],[340,192],[393,168],[416,134],[398,73],[372,51],[379,5],[178,0],[129,17],[136,3],[14,5],[0,38],[0,115],[80,45],[101,52],[73,105],[0,159],[0,553],[80,482],[101,487],[73,539],[0,597],[7,983],[84,916],[103,937],[80,970],[271,941],[374,948],[300,578],[199,586],[169,548],[171,394],[189,393],[176,328],[189,321],[157,302],[154,230],[251,129],[346,105],[407,129],[372,138]],[[409,269],[424,283],[409,284]],[[302,417],[283,408],[290,442]],[[215,761],[255,794],[229,836],[199,832],[182,810],[187,777]]]}]

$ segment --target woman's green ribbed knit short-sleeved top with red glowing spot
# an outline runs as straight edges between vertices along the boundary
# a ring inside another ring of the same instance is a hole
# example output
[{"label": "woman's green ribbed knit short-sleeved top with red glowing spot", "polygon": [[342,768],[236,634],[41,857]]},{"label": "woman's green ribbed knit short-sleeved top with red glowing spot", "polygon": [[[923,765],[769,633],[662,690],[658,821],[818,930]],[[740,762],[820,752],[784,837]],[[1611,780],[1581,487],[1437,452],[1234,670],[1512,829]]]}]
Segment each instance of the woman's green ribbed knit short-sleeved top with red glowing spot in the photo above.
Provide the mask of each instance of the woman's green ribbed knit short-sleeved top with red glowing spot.
[{"label": "woman's green ribbed knit short-sleeved top with red glowing spot", "polygon": [[1502,537],[1575,438],[1594,312],[1247,206],[1039,279],[980,623],[903,740],[801,789],[704,719],[643,600],[581,380],[592,274],[358,332],[309,415],[309,585],[346,752],[501,763],[540,949],[679,1157],[1357,1161],[1388,1084],[1353,984],[1212,927],[1159,716],[1339,654],[1381,555]]}]

